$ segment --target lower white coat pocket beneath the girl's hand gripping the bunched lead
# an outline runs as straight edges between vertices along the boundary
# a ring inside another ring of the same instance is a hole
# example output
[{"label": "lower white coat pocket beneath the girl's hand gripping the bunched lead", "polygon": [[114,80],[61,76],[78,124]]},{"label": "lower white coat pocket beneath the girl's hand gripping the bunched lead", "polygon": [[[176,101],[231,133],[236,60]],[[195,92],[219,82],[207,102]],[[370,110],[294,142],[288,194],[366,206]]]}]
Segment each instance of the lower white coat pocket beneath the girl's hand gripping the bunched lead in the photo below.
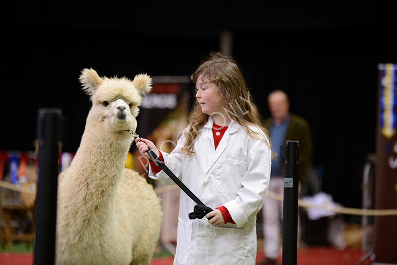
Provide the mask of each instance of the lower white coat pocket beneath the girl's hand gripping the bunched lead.
[{"label": "lower white coat pocket beneath the girl's hand gripping the bunched lead", "polygon": [[252,255],[252,242],[247,231],[241,228],[211,226],[208,235],[209,264],[242,264],[244,257]]}]

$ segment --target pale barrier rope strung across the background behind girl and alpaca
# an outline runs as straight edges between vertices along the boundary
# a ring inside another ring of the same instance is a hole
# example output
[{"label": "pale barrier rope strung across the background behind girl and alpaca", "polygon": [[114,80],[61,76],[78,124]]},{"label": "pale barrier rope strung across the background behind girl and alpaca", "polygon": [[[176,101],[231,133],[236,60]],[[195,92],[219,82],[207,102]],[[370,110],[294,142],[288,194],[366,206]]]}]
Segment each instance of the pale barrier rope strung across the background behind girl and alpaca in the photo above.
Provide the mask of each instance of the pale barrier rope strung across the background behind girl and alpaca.
[{"label": "pale barrier rope strung across the background behind girl and alpaca", "polygon": [[[6,188],[9,190],[14,190],[14,191],[21,192],[21,193],[36,194],[35,191],[21,189],[20,187],[13,185],[9,182],[5,182],[5,181],[0,181],[0,187]],[[179,189],[179,187],[177,185],[172,185],[172,186],[156,187],[156,188],[154,188],[154,191],[157,194],[162,194],[165,192],[178,190],[178,189]],[[283,196],[273,193],[273,192],[267,192],[266,197],[270,198],[270,199],[276,199],[279,201],[283,201]],[[329,211],[329,212],[340,213],[340,214],[349,214],[349,215],[365,215],[365,216],[397,215],[397,209],[360,209],[360,208],[348,208],[348,207],[340,207],[340,206],[331,207],[327,204],[319,205],[319,204],[310,203],[303,199],[298,199],[298,205],[300,207],[304,207],[304,208],[312,208],[312,209],[317,209],[317,210]]]}]

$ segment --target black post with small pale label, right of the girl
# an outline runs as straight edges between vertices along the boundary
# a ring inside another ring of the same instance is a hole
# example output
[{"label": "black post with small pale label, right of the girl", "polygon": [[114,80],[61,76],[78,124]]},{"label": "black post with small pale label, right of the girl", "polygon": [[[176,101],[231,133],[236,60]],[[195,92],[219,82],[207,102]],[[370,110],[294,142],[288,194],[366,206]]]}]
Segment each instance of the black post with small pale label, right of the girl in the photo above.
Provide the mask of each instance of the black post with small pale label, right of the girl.
[{"label": "black post with small pale label, right of the girl", "polygon": [[281,145],[284,159],[284,201],[282,228],[282,263],[296,265],[298,248],[298,161],[299,141],[285,141]]}]

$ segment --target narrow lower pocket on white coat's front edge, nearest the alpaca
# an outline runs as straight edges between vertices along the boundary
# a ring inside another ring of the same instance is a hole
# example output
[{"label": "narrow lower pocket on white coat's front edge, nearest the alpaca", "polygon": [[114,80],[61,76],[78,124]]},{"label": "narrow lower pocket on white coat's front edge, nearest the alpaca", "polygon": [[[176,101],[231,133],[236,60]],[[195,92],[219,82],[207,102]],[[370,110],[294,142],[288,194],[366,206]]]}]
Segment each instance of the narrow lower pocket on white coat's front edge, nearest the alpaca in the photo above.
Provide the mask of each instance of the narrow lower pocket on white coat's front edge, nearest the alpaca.
[{"label": "narrow lower pocket on white coat's front edge, nearest the alpaca", "polygon": [[188,263],[190,241],[192,238],[192,223],[178,222],[177,252],[175,261],[178,265]]}]

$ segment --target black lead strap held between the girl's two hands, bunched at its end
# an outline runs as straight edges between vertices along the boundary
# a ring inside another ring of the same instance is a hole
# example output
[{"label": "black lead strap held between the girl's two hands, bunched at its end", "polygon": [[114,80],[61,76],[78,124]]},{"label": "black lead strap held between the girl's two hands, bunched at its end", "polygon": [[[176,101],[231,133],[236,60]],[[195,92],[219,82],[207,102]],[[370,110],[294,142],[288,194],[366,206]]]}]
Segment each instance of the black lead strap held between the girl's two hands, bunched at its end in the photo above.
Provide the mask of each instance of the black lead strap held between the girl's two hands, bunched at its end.
[{"label": "black lead strap held between the girl's two hands, bunched at its end", "polygon": [[[194,193],[192,193],[192,191],[189,190],[189,188],[186,187],[186,185],[183,184],[183,182],[180,179],[178,179],[178,177],[175,176],[174,173],[172,173],[172,171],[164,164],[163,161],[161,161],[158,158],[158,156],[153,152],[152,149],[149,148],[146,152],[156,163],[156,165],[158,165],[165,172],[165,174],[167,174],[168,177],[170,177],[172,181],[175,182],[175,184],[178,185],[179,188],[181,188],[182,191],[184,191],[191,199],[193,199],[197,203],[197,205],[195,205],[194,207],[194,211],[189,213],[189,219],[196,219],[196,218],[201,219],[202,217],[205,216],[205,214],[212,211],[210,207],[205,206],[205,204],[202,203],[202,201],[199,198],[197,198],[197,196],[194,195]],[[209,217],[208,220],[211,218],[212,216]]]}]

